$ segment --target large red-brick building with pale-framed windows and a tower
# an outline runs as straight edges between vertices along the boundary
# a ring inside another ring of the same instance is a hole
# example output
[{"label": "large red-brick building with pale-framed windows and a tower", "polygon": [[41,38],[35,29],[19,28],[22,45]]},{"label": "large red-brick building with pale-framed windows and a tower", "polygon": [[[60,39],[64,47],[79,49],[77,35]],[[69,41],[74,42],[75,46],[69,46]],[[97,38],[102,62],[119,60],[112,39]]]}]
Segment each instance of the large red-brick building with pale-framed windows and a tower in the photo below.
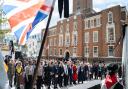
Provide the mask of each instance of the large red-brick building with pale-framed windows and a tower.
[{"label": "large red-brick building with pale-framed windows and a tower", "polygon": [[77,58],[86,61],[119,61],[122,57],[122,22],[126,7],[120,5],[95,12],[92,0],[73,0],[73,14],[49,29],[49,58]]}]

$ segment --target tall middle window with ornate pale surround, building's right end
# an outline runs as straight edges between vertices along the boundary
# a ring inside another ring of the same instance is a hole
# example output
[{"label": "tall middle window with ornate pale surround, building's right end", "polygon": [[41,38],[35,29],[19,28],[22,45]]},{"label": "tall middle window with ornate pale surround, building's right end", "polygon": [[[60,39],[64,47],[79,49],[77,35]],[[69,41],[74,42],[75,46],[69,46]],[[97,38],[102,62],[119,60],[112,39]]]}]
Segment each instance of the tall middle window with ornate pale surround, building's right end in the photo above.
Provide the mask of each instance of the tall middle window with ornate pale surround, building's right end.
[{"label": "tall middle window with ornate pale surround, building's right end", "polygon": [[115,32],[114,28],[110,27],[107,29],[107,42],[114,42],[115,41]]}]

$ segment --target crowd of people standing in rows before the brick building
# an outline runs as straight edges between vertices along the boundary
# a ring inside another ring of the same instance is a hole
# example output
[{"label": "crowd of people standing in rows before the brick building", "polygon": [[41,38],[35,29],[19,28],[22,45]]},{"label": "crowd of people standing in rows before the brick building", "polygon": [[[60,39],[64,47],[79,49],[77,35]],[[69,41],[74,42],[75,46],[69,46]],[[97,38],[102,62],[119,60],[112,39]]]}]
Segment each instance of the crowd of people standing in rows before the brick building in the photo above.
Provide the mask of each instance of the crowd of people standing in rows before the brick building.
[{"label": "crowd of people standing in rows before the brick building", "polygon": [[[30,89],[36,60],[9,60],[8,79],[9,85],[16,89]],[[41,89],[45,86],[50,89],[76,85],[92,79],[103,79],[107,74],[104,63],[83,63],[80,61],[58,61],[42,59],[38,68],[35,87]]]}]

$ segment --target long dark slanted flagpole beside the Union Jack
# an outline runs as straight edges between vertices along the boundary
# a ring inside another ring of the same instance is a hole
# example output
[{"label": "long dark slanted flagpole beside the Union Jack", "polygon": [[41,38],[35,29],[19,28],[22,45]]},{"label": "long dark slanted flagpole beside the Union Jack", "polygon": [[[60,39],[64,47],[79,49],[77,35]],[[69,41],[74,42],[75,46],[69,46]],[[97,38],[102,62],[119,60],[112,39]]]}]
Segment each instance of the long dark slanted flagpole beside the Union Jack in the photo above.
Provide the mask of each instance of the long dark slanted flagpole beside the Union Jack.
[{"label": "long dark slanted flagpole beside the Union Jack", "polygon": [[39,55],[38,55],[38,59],[37,59],[37,63],[36,63],[36,68],[35,68],[34,74],[33,74],[32,85],[30,85],[31,89],[33,89],[33,85],[34,85],[35,80],[36,80],[38,67],[39,67],[39,64],[40,64],[40,61],[41,61],[41,56],[42,56],[42,52],[43,52],[43,49],[44,49],[44,44],[45,44],[45,41],[46,41],[47,33],[48,33],[48,30],[49,30],[49,24],[50,24],[50,21],[51,21],[51,17],[52,17],[52,13],[53,13],[53,10],[54,10],[55,2],[56,2],[56,0],[53,0],[53,2],[52,2],[52,7],[51,7],[51,11],[50,11],[50,14],[49,14],[49,17],[48,17],[46,29],[45,29],[45,32],[44,32],[44,37],[43,37],[43,40],[42,40],[42,43],[41,43],[41,47],[40,47],[40,51],[39,51]]}]

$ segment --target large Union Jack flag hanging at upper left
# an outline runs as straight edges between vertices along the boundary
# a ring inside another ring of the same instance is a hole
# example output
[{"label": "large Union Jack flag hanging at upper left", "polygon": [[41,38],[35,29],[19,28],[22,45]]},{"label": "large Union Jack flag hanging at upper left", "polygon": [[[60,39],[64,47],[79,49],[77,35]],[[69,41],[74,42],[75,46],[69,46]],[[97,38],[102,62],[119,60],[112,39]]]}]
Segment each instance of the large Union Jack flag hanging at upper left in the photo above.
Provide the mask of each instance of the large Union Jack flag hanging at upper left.
[{"label": "large Union Jack flag hanging at upper left", "polygon": [[52,1],[6,0],[4,2],[3,11],[20,45],[26,43],[36,25],[48,16]]}]

